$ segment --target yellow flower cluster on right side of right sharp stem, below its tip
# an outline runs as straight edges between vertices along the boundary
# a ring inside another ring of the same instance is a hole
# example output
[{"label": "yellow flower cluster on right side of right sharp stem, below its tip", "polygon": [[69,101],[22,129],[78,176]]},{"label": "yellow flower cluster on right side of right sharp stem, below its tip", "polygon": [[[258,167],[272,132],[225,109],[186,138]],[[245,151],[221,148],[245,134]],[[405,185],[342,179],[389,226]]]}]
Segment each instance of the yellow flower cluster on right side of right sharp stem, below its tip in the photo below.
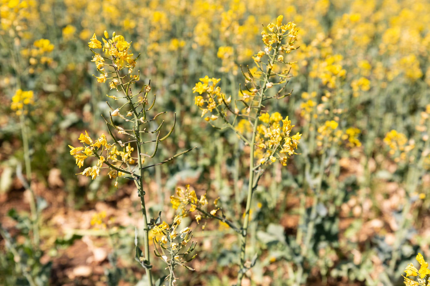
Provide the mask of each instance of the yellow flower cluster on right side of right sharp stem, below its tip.
[{"label": "yellow flower cluster on right side of right sharp stem, below its tip", "polygon": [[[287,166],[287,160],[297,150],[301,134],[297,132],[291,135],[294,125],[288,116],[283,119],[279,112],[263,113],[259,117],[262,122],[257,126],[258,134],[255,137],[257,158],[260,164],[273,163],[279,159],[283,166]],[[281,123],[282,122],[282,127]]]}]

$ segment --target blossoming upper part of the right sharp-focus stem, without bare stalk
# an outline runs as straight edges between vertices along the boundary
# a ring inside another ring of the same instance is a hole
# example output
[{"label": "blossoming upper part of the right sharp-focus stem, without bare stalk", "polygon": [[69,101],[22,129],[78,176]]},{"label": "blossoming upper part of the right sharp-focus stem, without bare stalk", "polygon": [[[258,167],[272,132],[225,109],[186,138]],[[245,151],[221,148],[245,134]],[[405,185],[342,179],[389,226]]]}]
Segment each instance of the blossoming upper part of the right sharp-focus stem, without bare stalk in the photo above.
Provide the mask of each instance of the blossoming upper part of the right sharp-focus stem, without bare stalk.
[{"label": "blossoming upper part of the right sharp-focus stem, without bare stalk", "polygon": [[[200,108],[201,116],[206,121],[212,124],[212,121],[220,118],[247,144],[253,141],[253,145],[257,147],[255,159],[258,166],[267,162],[273,163],[278,159],[286,166],[288,158],[296,154],[295,150],[301,138],[299,132],[290,134],[294,125],[291,125],[288,116],[284,118],[279,112],[269,114],[261,110],[263,100],[284,97],[279,96],[280,91],[275,96],[269,97],[266,90],[279,84],[286,84],[290,77],[289,69],[279,73],[275,70],[279,70],[281,64],[289,64],[284,62],[284,54],[296,49],[294,43],[297,40],[298,29],[293,22],[282,24],[282,20],[283,16],[280,15],[276,18],[276,23],[268,24],[261,32],[265,47],[252,58],[256,64],[255,71],[259,70],[261,72],[259,75],[263,77],[257,81],[255,72],[251,72],[249,68],[247,72],[242,71],[247,85],[246,89],[239,90],[237,100],[232,102],[232,96],[226,96],[221,92],[221,88],[217,86],[219,78],[209,78],[206,75],[200,78],[200,82],[193,88],[193,93],[199,93],[194,98],[194,104]],[[224,51],[226,48],[221,50]],[[221,54],[224,53],[220,52],[218,56]],[[276,65],[279,66],[275,68]],[[231,120],[231,117],[234,119]],[[243,119],[237,119],[238,117]],[[255,140],[247,140],[246,137],[249,135],[252,137],[253,132]]]}]

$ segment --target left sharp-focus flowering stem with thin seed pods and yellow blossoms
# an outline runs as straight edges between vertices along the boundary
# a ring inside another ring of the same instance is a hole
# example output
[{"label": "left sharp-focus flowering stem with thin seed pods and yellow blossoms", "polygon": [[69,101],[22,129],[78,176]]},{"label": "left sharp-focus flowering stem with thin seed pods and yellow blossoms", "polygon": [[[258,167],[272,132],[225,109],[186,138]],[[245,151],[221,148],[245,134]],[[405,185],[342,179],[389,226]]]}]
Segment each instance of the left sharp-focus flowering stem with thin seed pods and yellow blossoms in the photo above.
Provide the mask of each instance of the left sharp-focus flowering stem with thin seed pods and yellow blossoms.
[{"label": "left sharp-focus flowering stem with thin seed pods and yellow blossoms", "polygon": [[[136,66],[137,57],[133,57],[131,51],[131,42],[126,42],[123,36],[116,35],[114,32],[112,37],[109,38],[108,33],[104,32],[103,44],[97,39],[94,34],[88,43],[89,48],[93,51],[94,57],[92,62],[95,63],[99,75],[95,76],[99,83],[109,82],[111,89],[117,90],[122,93],[122,96],[108,96],[114,100],[122,100],[122,105],[117,108],[111,108],[109,118],[104,118],[107,125],[107,132],[114,141],[108,143],[106,135],[102,134],[97,139],[93,140],[88,132],[81,133],[79,140],[83,146],[74,147],[70,146],[70,154],[75,157],[76,164],[79,168],[84,165],[87,158],[93,157],[97,159],[94,166],[89,166],[81,172],[81,175],[92,177],[95,179],[100,175],[102,169],[106,169],[107,176],[115,180],[115,187],[118,187],[118,177],[125,176],[125,178],[134,181],[138,190],[138,195],[141,201],[141,210],[143,216],[144,227],[144,251],[142,252],[138,247],[137,238],[136,242],[136,260],[146,270],[147,281],[149,285],[153,285],[153,277],[151,274],[151,253],[149,250],[149,237],[150,230],[146,205],[145,205],[145,191],[144,191],[144,171],[157,165],[167,163],[174,158],[185,154],[192,149],[175,154],[158,163],[146,164],[146,160],[150,160],[157,153],[160,142],[172,134],[175,127],[173,123],[170,130],[161,135],[162,121],[156,129],[150,129],[148,123],[154,122],[158,116],[165,112],[151,114],[152,108],[155,105],[155,96],[152,102],[148,101],[148,95],[151,90],[149,84],[144,85],[140,91],[133,92],[133,84],[139,81],[139,72],[133,74],[133,69]],[[102,49],[104,55],[96,52],[97,49]],[[124,72],[126,71],[126,72]],[[109,105],[110,107],[110,105]],[[123,112],[125,110],[125,112]],[[121,114],[123,112],[123,114]],[[118,126],[113,117],[123,120],[123,126]],[[117,134],[116,134],[117,133]],[[125,143],[120,140],[120,137],[127,140]],[[150,140],[144,140],[145,137],[152,137]],[[155,137],[155,138],[154,138]],[[149,145],[148,147],[146,147]]]}]

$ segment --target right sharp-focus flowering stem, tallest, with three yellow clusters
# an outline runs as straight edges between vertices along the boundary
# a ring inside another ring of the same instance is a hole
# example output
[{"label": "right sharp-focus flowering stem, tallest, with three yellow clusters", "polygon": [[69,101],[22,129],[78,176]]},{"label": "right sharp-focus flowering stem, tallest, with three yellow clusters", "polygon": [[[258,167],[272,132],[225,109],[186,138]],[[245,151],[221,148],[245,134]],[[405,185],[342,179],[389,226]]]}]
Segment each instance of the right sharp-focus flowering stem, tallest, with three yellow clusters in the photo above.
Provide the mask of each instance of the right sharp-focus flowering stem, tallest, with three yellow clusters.
[{"label": "right sharp-focus flowering stem, tallest, with three yellow clusters", "polygon": [[[290,78],[290,69],[283,69],[285,65],[289,65],[284,62],[284,54],[296,49],[294,42],[298,30],[294,23],[283,25],[282,20],[283,16],[280,15],[276,24],[270,23],[261,33],[264,51],[258,51],[252,57],[257,72],[251,72],[249,68],[242,70],[246,84],[244,89],[240,88],[239,98],[233,101],[234,106],[231,96],[227,98],[221,88],[216,86],[219,79],[208,76],[200,78],[200,82],[193,88],[194,93],[200,94],[195,97],[195,104],[202,110],[202,117],[214,127],[232,129],[250,147],[246,207],[242,227],[236,229],[240,235],[237,285],[241,285],[246,271],[254,264],[246,261],[246,239],[252,212],[252,196],[258,181],[270,164],[279,161],[286,166],[288,158],[296,154],[295,149],[301,138],[300,133],[290,134],[294,125],[291,125],[288,116],[283,118],[279,112],[263,111],[265,101],[282,99],[291,94],[282,93]],[[277,92],[268,92],[275,86],[279,86]],[[221,123],[217,126],[218,119],[221,119]],[[212,217],[216,218],[213,214]]]}]

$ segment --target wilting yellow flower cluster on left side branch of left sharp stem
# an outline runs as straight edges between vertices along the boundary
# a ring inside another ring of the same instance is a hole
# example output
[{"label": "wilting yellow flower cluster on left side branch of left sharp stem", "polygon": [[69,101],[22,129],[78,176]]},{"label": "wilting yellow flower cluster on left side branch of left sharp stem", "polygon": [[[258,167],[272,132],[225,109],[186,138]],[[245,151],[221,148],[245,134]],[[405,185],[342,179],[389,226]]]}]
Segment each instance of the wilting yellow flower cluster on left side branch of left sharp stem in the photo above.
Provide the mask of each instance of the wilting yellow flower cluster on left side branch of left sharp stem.
[{"label": "wilting yellow flower cluster on left side branch of left sharp stem", "polygon": [[[79,174],[95,179],[99,175],[100,169],[102,168],[103,163],[105,164],[111,164],[116,162],[120,162],[121,164],[135,163],[135,159],[132,157],[132,152],[134,151],[134,148],[132,148],[130,144],[127,146],[124,146],[123,151],[119,151],[115,144],[107,143],[106,135],[102,134],[100,137],[97,138],[97,140],[93,141],[86,131],[85,131],[85,134],[81,133],[81,135],[79,136],[79,140],[81,143],[83,143],[83,146],[73,147],[69,145],[71,149],[70,154],[75,158],[76,165],[79,168],[83,166],[84,160],[87,159],[88,157],[98,158],[97,164],[95,166],[88,167]],[[100,154],[98,154],[99,150],[101,151]],[[106,157],[104,157],[103,154],[105,154]],[[121,160],[118,160],[118,156],[121,157]],[[109,160],[111,162],[109,162]],[[121,173],[118,174],[118,172],[115,169],[110,169],[108,175],[109,175],[109,178],[116,178],[118,175],[121,175]],[[116,183],[116,186],[117,186],[117,183]]]}]

